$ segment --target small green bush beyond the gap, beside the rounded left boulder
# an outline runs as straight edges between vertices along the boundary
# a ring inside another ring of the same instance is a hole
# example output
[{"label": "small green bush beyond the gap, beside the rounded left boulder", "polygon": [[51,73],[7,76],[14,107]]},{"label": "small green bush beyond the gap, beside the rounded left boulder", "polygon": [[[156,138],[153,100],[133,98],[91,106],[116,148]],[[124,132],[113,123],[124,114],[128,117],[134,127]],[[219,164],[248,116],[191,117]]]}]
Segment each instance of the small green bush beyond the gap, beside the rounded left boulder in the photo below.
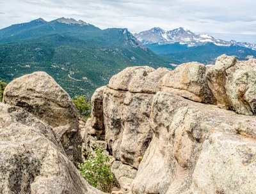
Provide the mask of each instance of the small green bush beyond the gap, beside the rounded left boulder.
[{"label": "small green bush beyond the gap, beside the rounded left boulder", "polygon": [[88,119],[91,114],[91,101],[88,100],[86,96],[75,96],[72,98],[73,103],[76,105],[76,108],[79,110],[83,119]]}]

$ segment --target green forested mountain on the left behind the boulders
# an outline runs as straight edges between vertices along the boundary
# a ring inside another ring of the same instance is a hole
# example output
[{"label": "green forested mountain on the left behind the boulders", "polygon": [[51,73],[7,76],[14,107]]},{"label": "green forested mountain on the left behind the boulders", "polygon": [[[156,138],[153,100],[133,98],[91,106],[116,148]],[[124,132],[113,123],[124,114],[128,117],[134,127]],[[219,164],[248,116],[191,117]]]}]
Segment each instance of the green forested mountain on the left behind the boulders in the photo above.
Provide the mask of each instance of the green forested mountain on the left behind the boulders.
[{"label": "green forested mountain on the left behind the boulders", "polygon": [[92,94],[127,66],[172,68],[127,29],[101,30],[81,20],[33,20],[0,30],[0,79],[46,71],[71,95]]}]

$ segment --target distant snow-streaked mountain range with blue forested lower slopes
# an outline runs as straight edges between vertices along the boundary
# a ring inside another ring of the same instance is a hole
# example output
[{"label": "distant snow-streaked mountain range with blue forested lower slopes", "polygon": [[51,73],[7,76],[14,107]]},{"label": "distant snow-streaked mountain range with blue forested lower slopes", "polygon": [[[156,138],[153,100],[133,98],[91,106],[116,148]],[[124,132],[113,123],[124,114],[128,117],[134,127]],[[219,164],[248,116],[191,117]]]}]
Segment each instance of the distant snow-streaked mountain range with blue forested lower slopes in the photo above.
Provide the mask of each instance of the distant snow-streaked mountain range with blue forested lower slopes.
[{"label": "distant snow-streaked mountain range with blue forested lower slopes", "polygon": [[176,63],[198,61],[214,64],[216,57],[221,54],[237,56],[239,60],[256,57],[256,44],[220,40],[208,34],[192,33],[182,27],[172,31],[154,27],[134,36],[145,47]]}]

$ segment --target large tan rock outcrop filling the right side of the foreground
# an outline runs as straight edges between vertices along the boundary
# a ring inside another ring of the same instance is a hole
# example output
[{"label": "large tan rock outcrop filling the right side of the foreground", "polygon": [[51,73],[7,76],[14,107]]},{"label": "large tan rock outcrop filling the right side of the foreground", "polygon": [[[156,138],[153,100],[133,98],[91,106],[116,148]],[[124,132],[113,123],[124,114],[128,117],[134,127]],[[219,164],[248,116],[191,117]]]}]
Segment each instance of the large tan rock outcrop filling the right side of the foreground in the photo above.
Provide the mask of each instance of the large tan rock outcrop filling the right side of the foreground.
[{"label": "large tan rock outcrop filling the right side of the foreground", "polygon": [[254,59],[223,55],[113,76],[100,122],[124,193],[255,193],[255,71]]}]

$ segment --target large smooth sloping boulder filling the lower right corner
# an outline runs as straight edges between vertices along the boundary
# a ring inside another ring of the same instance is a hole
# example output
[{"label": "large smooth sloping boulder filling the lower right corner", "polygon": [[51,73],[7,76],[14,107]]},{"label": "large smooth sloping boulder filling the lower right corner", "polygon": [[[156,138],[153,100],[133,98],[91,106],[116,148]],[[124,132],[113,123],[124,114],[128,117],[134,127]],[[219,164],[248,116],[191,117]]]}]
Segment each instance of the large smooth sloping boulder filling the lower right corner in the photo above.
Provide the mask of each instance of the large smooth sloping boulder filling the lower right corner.
[{"label": "large smooth sloping boulder filling the lower right corner", "polygon": [[150,126],[153,139],[132,183],[133,193],[255,191],[255,116],[159,92]]}]

